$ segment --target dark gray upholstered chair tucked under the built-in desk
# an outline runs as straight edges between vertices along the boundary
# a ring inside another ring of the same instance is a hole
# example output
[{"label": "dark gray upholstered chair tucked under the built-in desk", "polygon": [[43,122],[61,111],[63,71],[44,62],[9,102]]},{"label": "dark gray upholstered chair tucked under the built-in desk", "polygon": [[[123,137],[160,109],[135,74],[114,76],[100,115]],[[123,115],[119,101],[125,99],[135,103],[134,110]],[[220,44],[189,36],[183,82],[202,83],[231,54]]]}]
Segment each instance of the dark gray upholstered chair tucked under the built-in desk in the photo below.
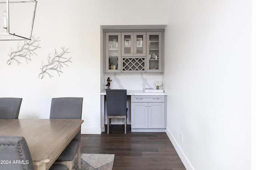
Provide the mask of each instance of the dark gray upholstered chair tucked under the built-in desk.
[{"label": "dark gray upholstered chair tucked under the built-in desk", "polygon": [[107,101],[107,118],[109,134],[109,121],[110,119],[124,119],[124,134],[126,134],[126,121],[127,121],[127,90],[125,89],[106,89]]}]

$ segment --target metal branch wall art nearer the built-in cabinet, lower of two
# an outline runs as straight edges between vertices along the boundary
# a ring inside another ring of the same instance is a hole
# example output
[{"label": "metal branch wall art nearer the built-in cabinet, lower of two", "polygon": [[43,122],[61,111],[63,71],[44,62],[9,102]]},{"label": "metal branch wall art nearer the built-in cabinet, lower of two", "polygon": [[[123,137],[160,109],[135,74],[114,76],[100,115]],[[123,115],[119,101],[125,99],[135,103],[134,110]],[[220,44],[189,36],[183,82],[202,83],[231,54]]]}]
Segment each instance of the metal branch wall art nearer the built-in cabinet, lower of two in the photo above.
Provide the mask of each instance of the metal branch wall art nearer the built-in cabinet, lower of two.
[{"label": "metal branch wall art nearer the built-in cabinet, lower of two", "polygon": [[48,63],[44,64],[42,61],[42,67],[41,69],[41,73],[38,75],[38,78],[43,79],[45,74],[47,74],[50,78],[52,78],[52,74],[50,74],[52,71],[56,71],[58,73],[58,75],[60,76],[60,73],[62,73],[62,68],[64,65],[68,66],[67,63],[72,63],[72,61],[70,61],[70,58],[65,58],[63,57],[64,54],[66,53],[70,53],[68,52],[68,49],[65,49],[64,47],[61,47],[62,52],[61,53],[57,53],[56,49],[55,49],[55,54],[54,57],[51,59],[50,54],[48,55]]}]

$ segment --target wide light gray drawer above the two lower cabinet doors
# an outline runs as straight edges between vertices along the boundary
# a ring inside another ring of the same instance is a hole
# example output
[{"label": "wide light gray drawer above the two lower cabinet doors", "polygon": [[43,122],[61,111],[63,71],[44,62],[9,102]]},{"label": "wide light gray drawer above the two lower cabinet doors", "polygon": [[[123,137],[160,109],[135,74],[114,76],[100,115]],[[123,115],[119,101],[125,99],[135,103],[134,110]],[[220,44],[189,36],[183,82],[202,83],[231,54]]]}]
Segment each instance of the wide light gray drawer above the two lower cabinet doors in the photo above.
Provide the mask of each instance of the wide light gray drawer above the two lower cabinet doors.
[{"label": "wide light gray drawer above the two lower cabinet doors", "polygon": [[131,96],[131,102],[164,102],[164,96]]}]

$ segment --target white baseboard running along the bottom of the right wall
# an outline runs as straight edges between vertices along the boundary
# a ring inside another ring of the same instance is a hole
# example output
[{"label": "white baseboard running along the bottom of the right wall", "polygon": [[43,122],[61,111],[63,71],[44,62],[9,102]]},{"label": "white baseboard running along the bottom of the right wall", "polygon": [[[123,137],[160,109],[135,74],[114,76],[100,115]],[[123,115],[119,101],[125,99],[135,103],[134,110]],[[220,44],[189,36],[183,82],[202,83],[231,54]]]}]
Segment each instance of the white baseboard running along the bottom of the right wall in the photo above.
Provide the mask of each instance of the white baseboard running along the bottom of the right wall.
[{"label": "white baseboard running along the bottom of the right wall", "polygon": [[186,155],[180,149],[180,146],[178,145],[177,141],[174,139],[174,137],[173,137],[172,133],[170,132],[170,130],[168,129],[168,127],[166,128],[166,134],[169,137],[170,141],[172,142],[172,145],[174,146],[176,152],[180,156],[180,159],[181,159],[182,163],[184,164],[185,168],[187,170],[194,170],[194,168],[192,167],[192,165],[188,161]]}]

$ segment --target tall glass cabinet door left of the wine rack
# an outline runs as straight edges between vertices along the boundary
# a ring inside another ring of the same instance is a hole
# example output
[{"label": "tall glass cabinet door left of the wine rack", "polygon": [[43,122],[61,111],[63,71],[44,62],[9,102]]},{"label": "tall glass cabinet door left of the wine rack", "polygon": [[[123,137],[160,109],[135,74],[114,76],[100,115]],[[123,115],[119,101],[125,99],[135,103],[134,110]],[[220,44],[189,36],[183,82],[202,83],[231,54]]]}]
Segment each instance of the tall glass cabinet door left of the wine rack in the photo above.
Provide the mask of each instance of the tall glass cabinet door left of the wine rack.
[{"label": "tall glass cabinet door left of the wine rack", "polygon": [[106,72],[121,72],[121,33],[106,33]]}]

